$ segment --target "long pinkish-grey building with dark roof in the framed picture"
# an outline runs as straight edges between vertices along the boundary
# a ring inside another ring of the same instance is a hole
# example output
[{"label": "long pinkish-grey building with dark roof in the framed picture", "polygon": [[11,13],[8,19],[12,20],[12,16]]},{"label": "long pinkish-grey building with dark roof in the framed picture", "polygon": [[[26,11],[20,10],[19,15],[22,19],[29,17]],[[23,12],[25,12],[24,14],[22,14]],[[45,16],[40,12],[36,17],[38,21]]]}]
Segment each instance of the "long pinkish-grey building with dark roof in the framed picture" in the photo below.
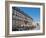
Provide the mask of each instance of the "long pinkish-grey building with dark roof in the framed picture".
[{"label": "long pinkish-grey building with dark roof in the framed picture", "polygon": [[32,29],[33,19],[19,7],[12,7],[12,30],[29,30]]}]

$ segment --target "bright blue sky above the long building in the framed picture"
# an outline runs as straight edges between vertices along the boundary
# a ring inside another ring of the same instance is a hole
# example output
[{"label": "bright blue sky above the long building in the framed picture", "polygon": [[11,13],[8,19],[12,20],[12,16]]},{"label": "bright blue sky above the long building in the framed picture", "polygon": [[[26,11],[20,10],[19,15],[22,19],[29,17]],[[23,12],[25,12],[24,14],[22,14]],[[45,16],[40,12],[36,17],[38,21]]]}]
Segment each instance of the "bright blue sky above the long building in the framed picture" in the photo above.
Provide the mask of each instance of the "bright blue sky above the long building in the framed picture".
[{"label": "bright blue sky above the long building in the framed picture", "polygon": [[20,9],[31,16],[35,22],[40,20],[40,8],[20,7]]}]

